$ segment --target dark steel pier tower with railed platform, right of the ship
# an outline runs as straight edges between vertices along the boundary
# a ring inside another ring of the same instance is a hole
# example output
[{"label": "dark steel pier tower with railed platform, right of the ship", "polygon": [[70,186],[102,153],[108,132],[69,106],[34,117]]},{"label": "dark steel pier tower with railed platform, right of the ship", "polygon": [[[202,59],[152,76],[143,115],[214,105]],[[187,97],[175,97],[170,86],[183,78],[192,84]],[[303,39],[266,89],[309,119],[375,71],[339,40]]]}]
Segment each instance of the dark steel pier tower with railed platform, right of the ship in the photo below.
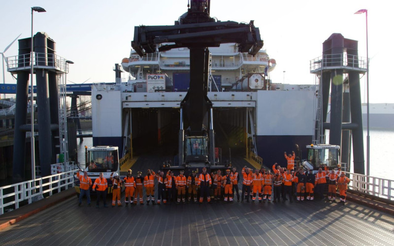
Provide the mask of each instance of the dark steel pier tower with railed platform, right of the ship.
[{"label": "dark steel pier tower with railed platform, right of the ship", "polygon": [[319,86],[313,143],[325,143],[324,130],[329,129],[329,144],[341,146],[341,162],[349,167],[352,141],[354,172],[359,174],[365,174],[360,74],[366,70],[366,60],[358,55],[358,41],[340,33],[331,34],[323,42],[323,55],[310,61],[310,72]]}]

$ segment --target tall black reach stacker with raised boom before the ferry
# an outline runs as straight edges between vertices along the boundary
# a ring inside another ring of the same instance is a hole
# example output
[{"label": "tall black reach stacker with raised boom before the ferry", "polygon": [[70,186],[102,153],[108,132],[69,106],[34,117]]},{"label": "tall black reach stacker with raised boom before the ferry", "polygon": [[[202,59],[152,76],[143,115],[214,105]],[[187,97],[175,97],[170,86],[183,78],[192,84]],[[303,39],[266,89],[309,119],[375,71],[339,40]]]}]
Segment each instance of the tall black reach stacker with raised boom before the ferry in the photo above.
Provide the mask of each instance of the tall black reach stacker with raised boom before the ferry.
[{"label": "tall black reach stacker with raised boom before the ferry", "polygon": [[[141,57],[174,48],[190,50],[190,86],[180,104],[178,167],[198,169],[224,168],[218,165],[212,102],[207,96],[209,49],[222,43],[236,43],[239,52],[256,55],[263,47],[254,21],[237,23],[210,17],[210,0],[191,0],[188,10],[173,26],[134,27],[131,47]],[[204,124],[205,123],[205,124]],[[208,126],[208,128],[207,128]]]}]

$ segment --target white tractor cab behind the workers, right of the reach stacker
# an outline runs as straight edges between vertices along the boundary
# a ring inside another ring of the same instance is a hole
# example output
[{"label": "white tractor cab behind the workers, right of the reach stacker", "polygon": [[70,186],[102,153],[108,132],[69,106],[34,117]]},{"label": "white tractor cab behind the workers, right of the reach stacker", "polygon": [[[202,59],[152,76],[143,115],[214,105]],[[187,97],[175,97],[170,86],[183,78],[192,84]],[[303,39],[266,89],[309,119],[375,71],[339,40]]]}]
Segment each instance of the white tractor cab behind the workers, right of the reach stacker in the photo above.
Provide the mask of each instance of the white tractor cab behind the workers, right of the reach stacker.
[{"label": "white tractor cab behind the workers, right of the reach stacker", "polygon": [[340,163],[340,147],[338,145],[317,144],[307,145],[307,159],[303,162],[305,168],[318,170],[327,166],[328,169],[337,167]]}]

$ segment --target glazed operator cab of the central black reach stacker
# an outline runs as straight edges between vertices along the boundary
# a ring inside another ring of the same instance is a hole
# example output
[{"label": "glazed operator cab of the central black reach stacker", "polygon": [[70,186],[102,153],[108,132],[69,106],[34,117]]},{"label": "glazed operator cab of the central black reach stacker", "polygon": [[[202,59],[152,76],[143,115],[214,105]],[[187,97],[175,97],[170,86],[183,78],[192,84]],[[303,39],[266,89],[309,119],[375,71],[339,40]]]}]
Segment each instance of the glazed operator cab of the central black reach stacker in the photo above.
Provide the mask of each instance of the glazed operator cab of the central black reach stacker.
[{"label": "glazed operator cab of the central black reach stacker", "polygon": [[208,161],[208,137],[186,137],[185,148],[185,162]]}]

